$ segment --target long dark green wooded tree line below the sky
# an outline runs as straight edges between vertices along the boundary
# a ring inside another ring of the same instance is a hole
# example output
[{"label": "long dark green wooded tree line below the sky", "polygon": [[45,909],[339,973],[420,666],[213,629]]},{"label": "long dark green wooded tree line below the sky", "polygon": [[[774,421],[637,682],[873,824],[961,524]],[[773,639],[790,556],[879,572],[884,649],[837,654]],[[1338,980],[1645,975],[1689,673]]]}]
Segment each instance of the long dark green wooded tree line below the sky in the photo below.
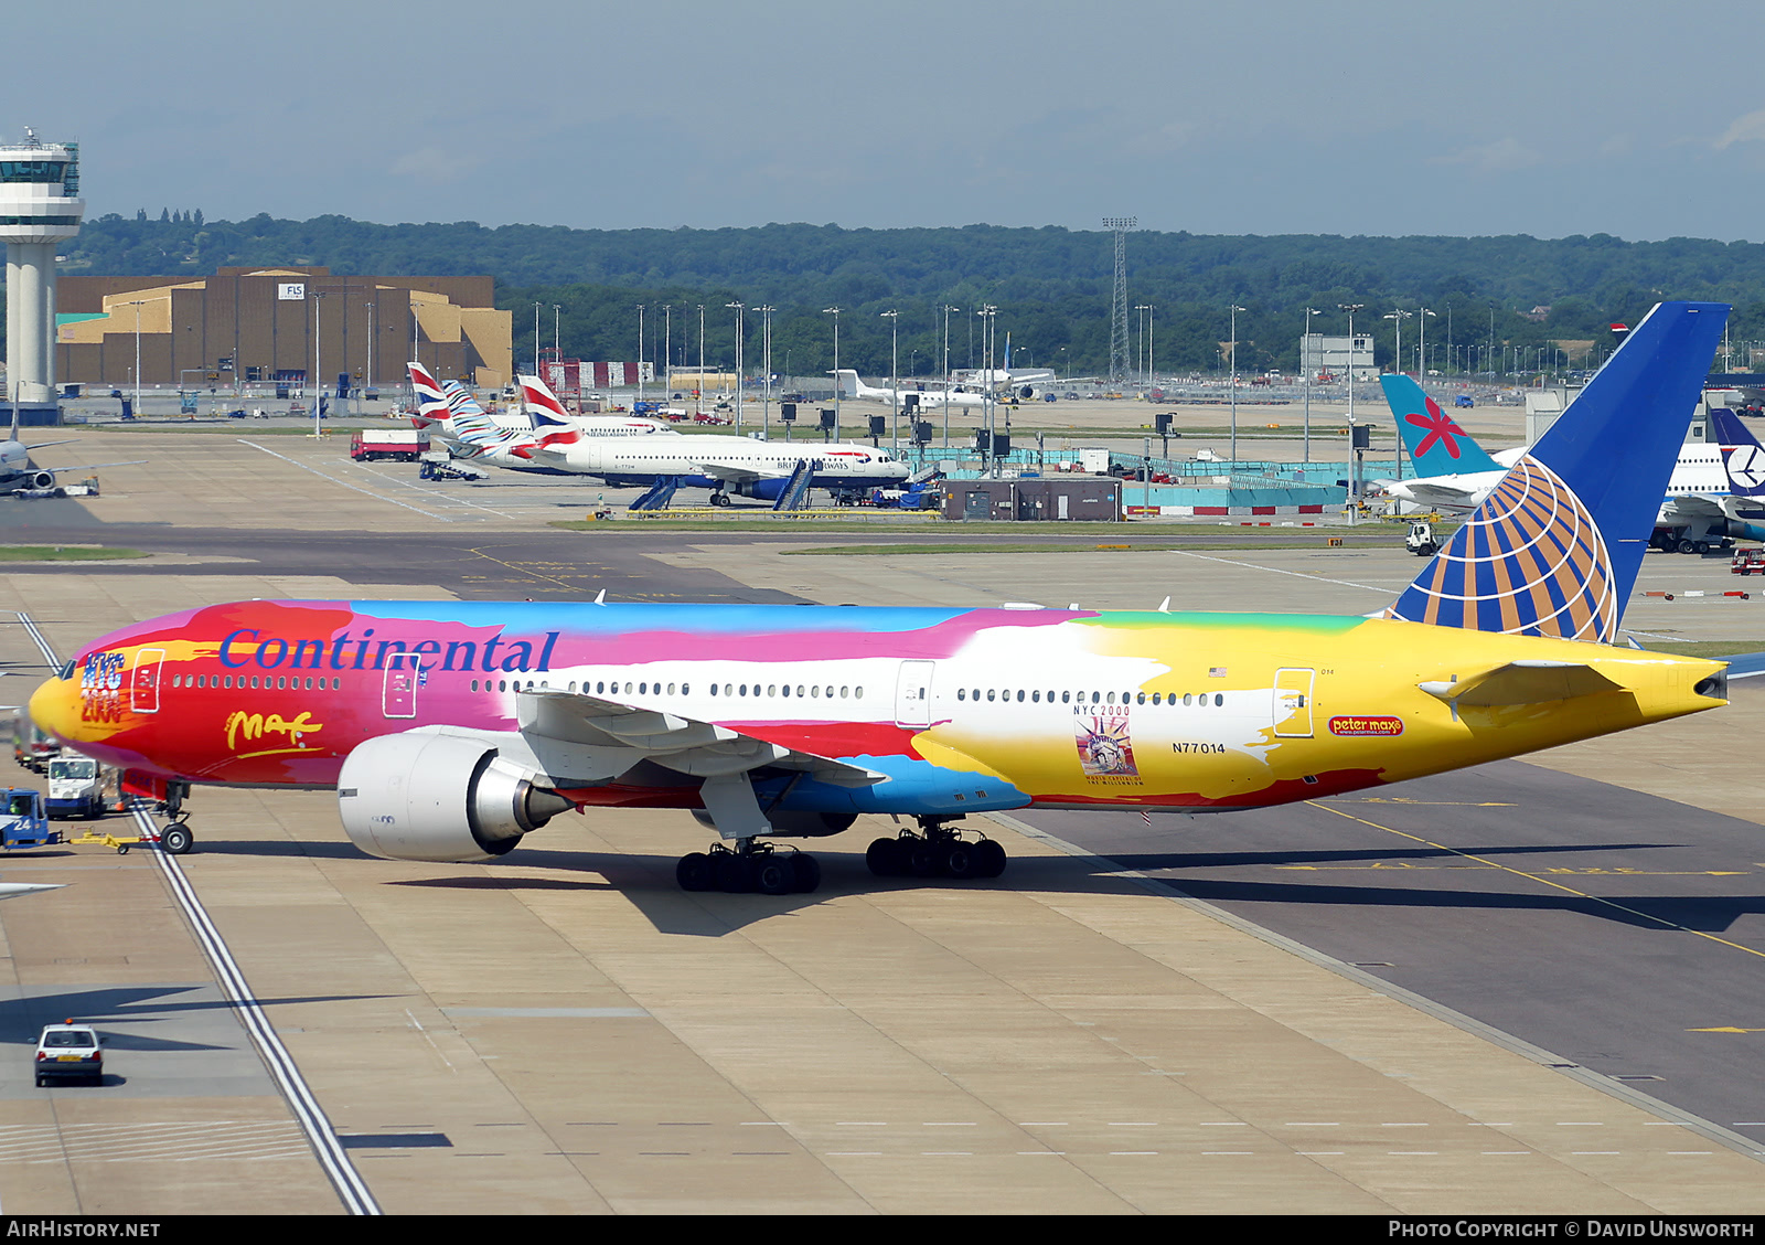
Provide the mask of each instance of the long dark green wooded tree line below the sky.
[{"label": "long dark green wooded tree line below the sky", "polygon": [[[944,314],[950,362],[978,366],[980,307],[997,307],[997,341],[1010,332],[1013,364],[1091,376],[1108,369],[1114,251],[1105,231],[971,224],[921,230],[844,230],[768,224],[729,230],[570,230],[512,224],[371,224],[341,215],[281,221],[210,221],[201,212],[146,210],[88,221],[64,249],[64,272],[94,275],[203,275],[222,265],[328,265],[339,274],[491,274],[498,306],[514,313],[515,355],[533,355],[560,330],[565,355],[674,364],[704,358],[727,367],[734,311],[773,313],[773,369],[815,374],[833,366],[840,307],[840,364],[888,374],[890,320],[898,311],[898,369],[935,374]],[[1317,332],[1347,328],[1341,304],[1361,304],[1393,364],[1394,309],[1426,307],[1431,366],[1490,360],[1537,366],[1551,343],[1594,341],[1610,350],[1611,321],[1631,323],[1659,298],[1735,304],[1737,341],[1765,337],[1765,245],[1670,238],[1624,242],[1610,235],[1532,237],[1227,237],[1137,231],[1128,237],[1130,304],[1149,304],[1161,374],[1227,364],[1228,309],[1237,316],[1239,367],[1297,367],[1306,307]],[[552,311],[552,306],[561,311]],[[639,348],[639,304],[644,344]],[[1534,318],[1536,307],[1550,307]],[[1130,311],[1130,358],[1144,357]],[[1414,367],[1417,318],[1403,323],[1405,367]],[[1453,348],[1451,351],[1447,348]],[[747,316],[747,366],[761,364],[761,316]]]}]

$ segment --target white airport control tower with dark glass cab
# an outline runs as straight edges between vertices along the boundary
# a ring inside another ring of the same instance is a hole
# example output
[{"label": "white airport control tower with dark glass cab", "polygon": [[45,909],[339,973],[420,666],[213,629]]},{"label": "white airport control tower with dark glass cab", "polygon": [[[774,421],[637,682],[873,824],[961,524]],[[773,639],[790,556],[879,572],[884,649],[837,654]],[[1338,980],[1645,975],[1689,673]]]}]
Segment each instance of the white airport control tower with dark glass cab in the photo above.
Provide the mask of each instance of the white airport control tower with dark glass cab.
[{"label": "white airport control tower with dark glass cab", "polygon": [[[25,131],[0,147],[0,238],[5,238],[7,392],[21,422],[55,419],[55,249],[79,233],[79,145]],[[32,411],[37,408],[37,411]],[[28,415],[35,415],[30,419]]]}]

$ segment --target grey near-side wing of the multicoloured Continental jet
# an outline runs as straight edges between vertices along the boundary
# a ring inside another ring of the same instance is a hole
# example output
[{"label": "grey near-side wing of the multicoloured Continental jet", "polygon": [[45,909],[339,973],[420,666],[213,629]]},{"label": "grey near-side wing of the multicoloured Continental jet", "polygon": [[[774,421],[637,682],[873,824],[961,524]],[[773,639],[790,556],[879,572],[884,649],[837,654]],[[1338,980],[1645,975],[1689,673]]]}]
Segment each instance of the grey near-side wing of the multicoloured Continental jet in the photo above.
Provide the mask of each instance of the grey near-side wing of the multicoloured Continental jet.
[{"label": "grey near-side wing of the multicoloured Continental jet", "polygon": [[604,782],[642,761],[702,779],[747,773],[761,766],[798,770],[845,788],[870,786],[888,777],[715,722],[581,692],[521,692],[517,719],[533,759],[561,786]]}]

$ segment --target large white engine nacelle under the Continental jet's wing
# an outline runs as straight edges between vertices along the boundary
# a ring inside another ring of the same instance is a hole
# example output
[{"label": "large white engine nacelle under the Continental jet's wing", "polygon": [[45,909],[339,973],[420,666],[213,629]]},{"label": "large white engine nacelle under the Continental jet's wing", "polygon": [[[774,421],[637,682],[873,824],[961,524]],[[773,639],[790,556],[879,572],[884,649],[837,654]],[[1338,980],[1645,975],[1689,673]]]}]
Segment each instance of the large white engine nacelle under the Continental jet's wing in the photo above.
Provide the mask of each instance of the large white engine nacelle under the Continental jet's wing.
[{"label": "large white engine nacelle under the Continental jet's wing", "polygon": [[387,860],[492,860],[575,805],[484,740],[406,731],[367,740],[337,775],[349,841]]}]

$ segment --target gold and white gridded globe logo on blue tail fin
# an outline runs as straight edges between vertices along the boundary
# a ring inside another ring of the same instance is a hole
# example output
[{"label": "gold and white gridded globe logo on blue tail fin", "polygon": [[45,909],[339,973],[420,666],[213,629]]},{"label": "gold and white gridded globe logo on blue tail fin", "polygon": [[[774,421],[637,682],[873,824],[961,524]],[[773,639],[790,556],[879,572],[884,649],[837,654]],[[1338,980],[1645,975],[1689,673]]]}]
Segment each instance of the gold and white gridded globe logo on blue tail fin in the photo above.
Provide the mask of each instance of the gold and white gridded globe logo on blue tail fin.
[{"label": "gold and white gridded globe logo on blue tail fin", "polygon": [[1619,599],[1606,540],[1562,477],[1523,457],[1453,533],[1389,618],[1610,643]]}]

